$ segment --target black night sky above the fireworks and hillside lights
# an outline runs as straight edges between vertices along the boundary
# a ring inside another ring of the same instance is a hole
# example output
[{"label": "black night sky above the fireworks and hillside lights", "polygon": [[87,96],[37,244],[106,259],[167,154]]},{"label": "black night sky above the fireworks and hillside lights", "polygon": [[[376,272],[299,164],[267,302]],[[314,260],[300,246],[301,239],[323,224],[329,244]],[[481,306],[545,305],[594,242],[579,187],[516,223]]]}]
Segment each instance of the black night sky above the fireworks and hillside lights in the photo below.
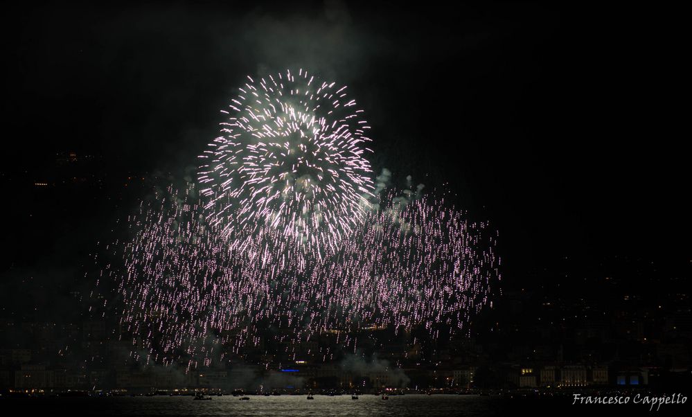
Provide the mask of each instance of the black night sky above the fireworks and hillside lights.
[{"label": "black night sky above the fireworks and hillside lights", "polygon": [[[560,256],[689,260],[675,10],[245,3],[4,10],[3,175],[76,150],[113,175],[181,176],[245,75],[302,67],[349,85],[376,169],[452,190],[490,220],[510,281]],[[6,219],[33,201],[12,193]],[[78,215],[51,221],[62,227],[34,231],[35,245],[78,245]],[[25,223],[13,223],[16,245]]]}]

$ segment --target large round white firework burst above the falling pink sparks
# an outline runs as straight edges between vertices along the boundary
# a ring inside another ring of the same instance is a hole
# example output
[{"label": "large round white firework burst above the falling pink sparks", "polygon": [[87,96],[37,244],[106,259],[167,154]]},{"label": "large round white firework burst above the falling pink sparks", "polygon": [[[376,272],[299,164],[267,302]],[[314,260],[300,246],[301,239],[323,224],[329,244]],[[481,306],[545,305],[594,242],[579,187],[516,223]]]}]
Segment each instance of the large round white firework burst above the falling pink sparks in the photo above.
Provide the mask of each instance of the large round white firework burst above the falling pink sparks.
[{"label": "large round white firework burst above the falling pink sparks", "polygon": [[374,197],[364,158],[370,127],[345,86],[303,69],[247,78],[233,112],[223,110],[222,136],[199,157],[208,221],[231,245],[272,227],[321,257],[358,226]]}]

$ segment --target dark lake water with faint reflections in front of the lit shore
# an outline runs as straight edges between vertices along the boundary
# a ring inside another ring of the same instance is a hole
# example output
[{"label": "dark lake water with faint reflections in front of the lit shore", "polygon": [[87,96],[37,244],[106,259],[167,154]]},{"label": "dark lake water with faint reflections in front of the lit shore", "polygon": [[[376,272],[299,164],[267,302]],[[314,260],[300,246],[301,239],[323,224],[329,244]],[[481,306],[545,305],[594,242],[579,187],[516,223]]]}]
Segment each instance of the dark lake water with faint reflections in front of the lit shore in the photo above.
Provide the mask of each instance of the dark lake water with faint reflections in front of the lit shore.
[{"label": "dark lake water with faint reflections in front of the lit shore", "polygon": [[[689,407],[673,407],[680,411]],[[1,398],[5,416],[588,416],[596,413],[650,415],[646,407],[578,406],[567,396],[560,398],[517,399],[501,396],[363,395],[351,396],[250,396],[213,397],[196,401],[190,396],[106,397],[106,398]],[[664,410],[662,410],[664,411]],[[623,415],[624,415],[623,414]],[[659,413],[658,415],[667,414]],[[684,414],[684,413],[683,413]]]}]

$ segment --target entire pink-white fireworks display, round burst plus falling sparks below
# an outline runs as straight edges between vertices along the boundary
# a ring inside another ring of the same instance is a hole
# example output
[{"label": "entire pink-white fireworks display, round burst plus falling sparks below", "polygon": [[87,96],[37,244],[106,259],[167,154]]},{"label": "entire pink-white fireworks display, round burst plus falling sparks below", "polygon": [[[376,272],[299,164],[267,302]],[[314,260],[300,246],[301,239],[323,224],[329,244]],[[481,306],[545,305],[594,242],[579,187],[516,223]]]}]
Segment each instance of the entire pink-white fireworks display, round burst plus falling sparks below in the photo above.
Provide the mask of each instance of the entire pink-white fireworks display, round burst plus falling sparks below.
[{"label": "entire pink-white fireworks display, round burst plus falling sparks below", "polygon": [[343,330],[353,351],[366,328],[468,332],[499,284],[497,233],[444,193],[376,179],[347,90],[303,69],[247,77],[197,181],[127,218],[98,282],[114,287],[134,357],[209,365],[269,326],[284,342]]}]

